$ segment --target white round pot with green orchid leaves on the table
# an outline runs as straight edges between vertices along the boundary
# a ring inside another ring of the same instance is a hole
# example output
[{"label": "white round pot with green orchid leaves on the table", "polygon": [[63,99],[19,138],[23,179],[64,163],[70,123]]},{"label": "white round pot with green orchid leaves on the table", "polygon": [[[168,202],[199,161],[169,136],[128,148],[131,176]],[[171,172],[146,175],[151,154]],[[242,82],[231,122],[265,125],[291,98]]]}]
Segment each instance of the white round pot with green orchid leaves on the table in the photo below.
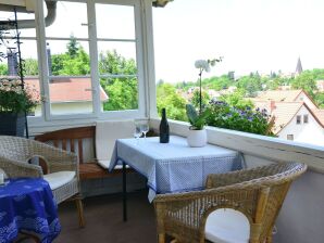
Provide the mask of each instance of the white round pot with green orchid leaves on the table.
[{"label": "white round pot with green orchid leaves on the table", "polygon": [[204,125],[209,116],[209,110],[197,113],[192,104],[186,105],[188,120],[190,123],[187,142],[189,146],[204,146],[207,144],[207,132]]}]

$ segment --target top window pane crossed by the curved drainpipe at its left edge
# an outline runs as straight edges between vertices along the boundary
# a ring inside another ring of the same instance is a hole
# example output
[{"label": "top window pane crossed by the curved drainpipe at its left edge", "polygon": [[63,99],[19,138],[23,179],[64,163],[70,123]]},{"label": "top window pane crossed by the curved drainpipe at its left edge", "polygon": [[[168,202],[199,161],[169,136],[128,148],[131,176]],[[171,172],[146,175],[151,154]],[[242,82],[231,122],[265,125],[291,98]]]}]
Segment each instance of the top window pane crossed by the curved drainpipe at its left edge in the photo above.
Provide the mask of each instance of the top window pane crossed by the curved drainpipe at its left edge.
[{"label": "top window pane crossed by the curved drainpipe at its left edge", "polygon": [[46,36],[88,38],[87,23],[86,3],[59,1],[55,21],[46,28]]}]

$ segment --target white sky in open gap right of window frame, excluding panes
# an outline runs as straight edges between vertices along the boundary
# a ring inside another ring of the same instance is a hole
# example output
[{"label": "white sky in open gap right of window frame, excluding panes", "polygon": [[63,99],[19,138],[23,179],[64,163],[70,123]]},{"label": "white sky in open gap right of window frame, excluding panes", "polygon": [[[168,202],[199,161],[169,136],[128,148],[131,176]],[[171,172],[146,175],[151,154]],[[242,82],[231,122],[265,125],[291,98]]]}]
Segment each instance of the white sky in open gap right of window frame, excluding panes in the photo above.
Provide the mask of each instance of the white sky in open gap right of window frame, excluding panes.
[{"label": "white sky in open gap right of window frame, excluding panes", "polygon": [[203,77],[235,71],[324,68],[323,0],[174,0],[153,10],[155,76],[197,80],[195,61],[223,56]]}]

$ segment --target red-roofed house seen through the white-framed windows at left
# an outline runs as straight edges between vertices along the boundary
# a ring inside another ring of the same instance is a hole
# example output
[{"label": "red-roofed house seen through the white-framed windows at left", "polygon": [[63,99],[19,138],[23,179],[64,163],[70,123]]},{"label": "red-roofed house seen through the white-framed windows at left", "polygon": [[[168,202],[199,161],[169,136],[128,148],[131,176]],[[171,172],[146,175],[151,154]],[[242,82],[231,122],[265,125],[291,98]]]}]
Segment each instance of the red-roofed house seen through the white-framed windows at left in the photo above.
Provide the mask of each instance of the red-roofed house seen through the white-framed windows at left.
[{"label": "red-roofed house seen through the white-framed windows at left", "polygon": [[[26,87],[32,91],[35,100],[39,100],[39,80],[25,78]],[[92,113],[92,89],[90,78],[60,78],[49,84],[49,98],[46,101],[51,104],[51,114],[87,114]],[[103,111],[103,103],[109,100],[108,94],[100,86],[100,104]],[[41,104],[35,108],[35,116],[41,115]]]}]

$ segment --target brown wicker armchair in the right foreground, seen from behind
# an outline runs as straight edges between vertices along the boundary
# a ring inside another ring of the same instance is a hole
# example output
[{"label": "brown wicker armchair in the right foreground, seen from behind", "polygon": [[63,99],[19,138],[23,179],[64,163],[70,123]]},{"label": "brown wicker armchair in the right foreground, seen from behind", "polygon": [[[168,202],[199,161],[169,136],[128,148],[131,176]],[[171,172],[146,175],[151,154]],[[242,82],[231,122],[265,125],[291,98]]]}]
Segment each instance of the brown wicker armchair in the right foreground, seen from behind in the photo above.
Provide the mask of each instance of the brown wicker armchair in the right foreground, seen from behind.
[{"label": "brown wicker armchair in the right foreground, seen from behind", "polygon": [[[159,243],[165,242],[166,235],[176,242],[272,242],[274,222],[290,183],[306,169],[303,164],[278,163],[210,175],[203,191],[157,195]],[[233,213],[234,219],[226,218]]]}]

